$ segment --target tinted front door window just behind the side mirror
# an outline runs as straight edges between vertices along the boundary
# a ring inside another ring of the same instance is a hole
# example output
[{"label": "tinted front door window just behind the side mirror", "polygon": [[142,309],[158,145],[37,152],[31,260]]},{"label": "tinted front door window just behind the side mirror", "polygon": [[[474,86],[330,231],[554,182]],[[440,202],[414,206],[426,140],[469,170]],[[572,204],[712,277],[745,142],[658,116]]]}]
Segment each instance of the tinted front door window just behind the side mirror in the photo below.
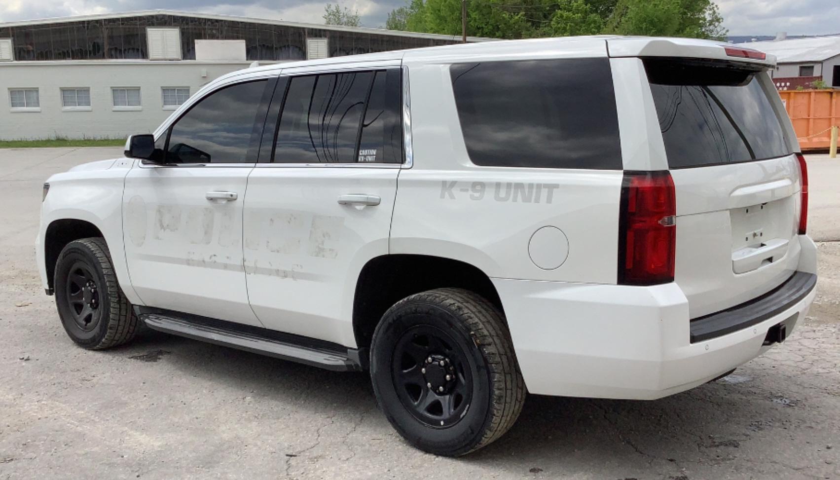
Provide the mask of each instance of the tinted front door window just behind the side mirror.
[{"label": "tinted front door window just behind the side mirror", "polygon": [[172,125],[166,162],[249,161],[251,135],[266,82],[239,83],[202,98]]}]

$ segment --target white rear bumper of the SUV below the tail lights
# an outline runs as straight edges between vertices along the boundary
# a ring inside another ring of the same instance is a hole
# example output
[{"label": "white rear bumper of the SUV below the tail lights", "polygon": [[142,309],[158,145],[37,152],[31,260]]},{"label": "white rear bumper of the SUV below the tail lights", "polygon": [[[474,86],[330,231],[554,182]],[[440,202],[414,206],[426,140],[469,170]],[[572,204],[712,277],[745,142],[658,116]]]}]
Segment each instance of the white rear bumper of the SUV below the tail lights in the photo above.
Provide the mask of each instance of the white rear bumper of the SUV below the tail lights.
[{"label": "white rear bumper of the SUV below the tail lights", "polygon": [[[803,273],[791,281],[816,272],[815,245],[804,235],[800,241]],[[743,310],[728,317],[737,328],[730,324],[714,338],[692,342],[696,322],[690,321],[688,301],[675,283],[493,282],[528,390],[592,398],[662,398],[719,377],[769,349],[764,340],[775,325],[785,322],[790,335],[816,295],[811,283],[787,303],[763,296],[751,305],[753,313],[761,313],[749,317],[751,323],[738,323]]]}]

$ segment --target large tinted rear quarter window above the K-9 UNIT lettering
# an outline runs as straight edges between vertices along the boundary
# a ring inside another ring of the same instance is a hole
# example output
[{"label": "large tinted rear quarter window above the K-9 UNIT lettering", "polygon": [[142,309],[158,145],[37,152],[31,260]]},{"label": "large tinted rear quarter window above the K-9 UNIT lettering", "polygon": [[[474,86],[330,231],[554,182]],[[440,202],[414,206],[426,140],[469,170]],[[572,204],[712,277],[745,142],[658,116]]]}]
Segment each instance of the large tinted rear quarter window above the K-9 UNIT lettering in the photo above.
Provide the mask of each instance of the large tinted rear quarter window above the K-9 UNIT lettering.
[{"label": "large tinted rear quarter window above the K-9 UNIT lettering", "polygon": [[457,64],[450,75],[473,163],[622,168],[606,58]]}]

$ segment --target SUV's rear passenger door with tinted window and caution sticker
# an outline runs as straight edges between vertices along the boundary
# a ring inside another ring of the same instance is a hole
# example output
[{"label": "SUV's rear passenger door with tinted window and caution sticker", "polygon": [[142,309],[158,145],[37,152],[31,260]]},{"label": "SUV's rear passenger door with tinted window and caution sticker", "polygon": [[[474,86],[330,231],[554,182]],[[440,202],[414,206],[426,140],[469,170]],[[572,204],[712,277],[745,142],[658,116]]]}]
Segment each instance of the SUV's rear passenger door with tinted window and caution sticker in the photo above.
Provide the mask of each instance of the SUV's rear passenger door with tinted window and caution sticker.
[{"label": "SUV's rear passenger door with tinted window and caution sticker", "polygon": [[245,198],[251,307],[267,328],[353,346],[356,280],[388,253],[400,71],[287,76],[278,91],[286,79],[273,161],[257,164]]}]

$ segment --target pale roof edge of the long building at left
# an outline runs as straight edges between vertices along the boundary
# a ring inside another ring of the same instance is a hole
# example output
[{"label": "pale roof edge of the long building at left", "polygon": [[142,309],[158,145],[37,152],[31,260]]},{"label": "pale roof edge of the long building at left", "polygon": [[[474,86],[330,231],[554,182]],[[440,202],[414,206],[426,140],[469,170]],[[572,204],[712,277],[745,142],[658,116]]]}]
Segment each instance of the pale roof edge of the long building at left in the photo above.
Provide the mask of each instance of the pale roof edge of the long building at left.
[{"label": "pale roof edge of the long building at left", "polygon": [[[218,15],[215,13],[196,13],[183,12],[181,10],[138,10],[134,12],[123,13],[97,13],[95,15],[78,15],[75,17],[56,17],[56,18],[36,18],[32,20],[18,20],[13,22],[0,22],[0,28],[3,27],[25,27],[41,24],[62,24],[66,22],[83,22],[87,20],[102,20],[108,18],[131,18],[144,17],[148,15],[172,15],[176,17],[192,17],[192,18],[209,18],[213,20],[227,20],[228,22],[248,22],[251,24],[270,24],[270,25],[284,25],[287,27],[297,27],[301,29],[322,29],[335,30],[341,32],[355,32],[360,34],[379,34],[392,35],[399,37],[414,37],[419,39],[433,39],[433,40],[451,40],[460,41],[460,35],[444,35],[444,34],[426,34],[421,32],[403,32],[401,30],[387,30],[387,29],[371,29],[367,27],[345,27],[344,25],[327,25],[327,24],[307,24],[302,22],[287,22],[286,20],[271,20],[268,18],[250,18],[237,17],[234,15]],[[482,37],[467,37],[468,42],[480,42],[486,40]]]}]

